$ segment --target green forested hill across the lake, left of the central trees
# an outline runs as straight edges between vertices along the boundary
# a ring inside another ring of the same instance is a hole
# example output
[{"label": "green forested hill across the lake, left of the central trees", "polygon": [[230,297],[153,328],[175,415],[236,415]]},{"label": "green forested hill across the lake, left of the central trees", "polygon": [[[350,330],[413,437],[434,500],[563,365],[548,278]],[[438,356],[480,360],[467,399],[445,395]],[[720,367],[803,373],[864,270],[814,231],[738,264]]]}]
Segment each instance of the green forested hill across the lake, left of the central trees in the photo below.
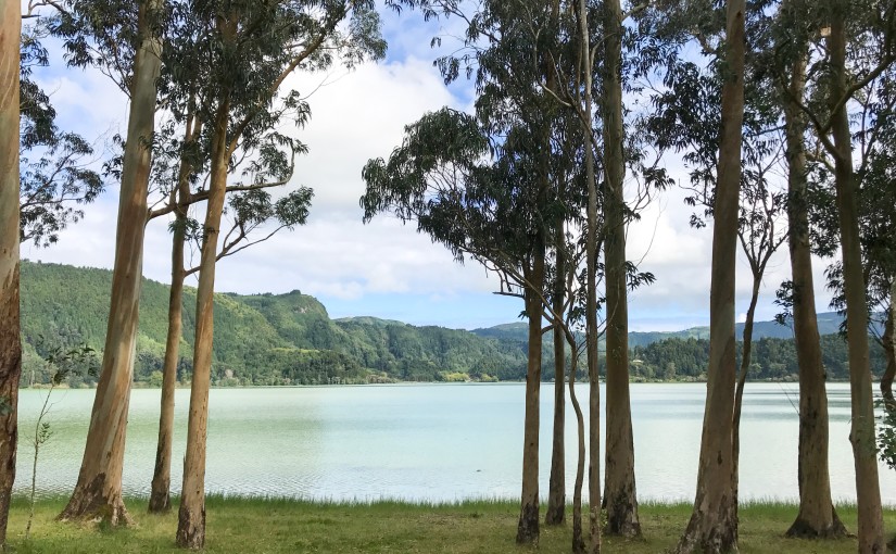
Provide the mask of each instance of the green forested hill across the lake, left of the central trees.
[{"label": "green forested hill across the lake, left of the central trees", "polygon": [[[112,273],[23,262],[26,381],[45,382],[41,353],[55,345],[103,349]],[[168,287],[143,280],[135,379],[162,368]],[[178,377],[191,373],[195,290],[184,294]],[[469,331],[356,317],[330,319],[324,305],[287,294],[215,297],[213,380],[217,385],[307,385],[377,380],[510,380],[526,375],[525,343]]]}]

